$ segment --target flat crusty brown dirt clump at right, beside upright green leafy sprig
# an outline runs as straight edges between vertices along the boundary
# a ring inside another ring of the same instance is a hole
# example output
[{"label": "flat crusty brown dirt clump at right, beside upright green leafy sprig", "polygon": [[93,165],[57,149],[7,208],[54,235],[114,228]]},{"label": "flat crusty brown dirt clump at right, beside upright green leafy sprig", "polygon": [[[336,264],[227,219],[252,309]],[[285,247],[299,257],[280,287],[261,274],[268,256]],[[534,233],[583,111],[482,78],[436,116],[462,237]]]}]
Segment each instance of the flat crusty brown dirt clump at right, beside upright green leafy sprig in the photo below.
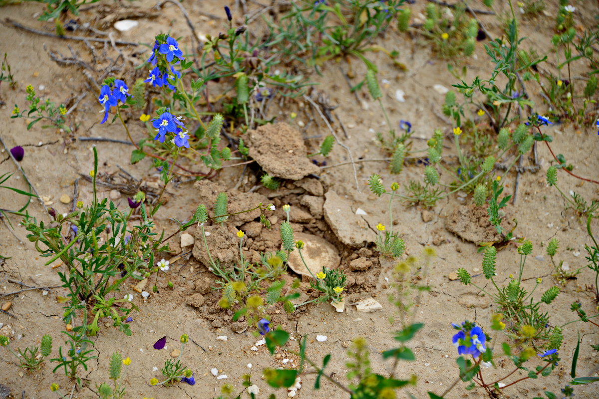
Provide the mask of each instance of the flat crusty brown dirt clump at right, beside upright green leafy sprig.
[{"label": "flat crusty brown dirt clump at right, beside upright green leafy sprig", "polygon": [[[502,225],[507,231],[510,231],[514,225],[512,217],[506,215]],[[462,238],[462,240],[475,244],[503,241],[503,237],[497,233],[495,227],[489,222],[486,209],[477,207],[474,204],[457,207],[445,219],[445,228]]]}]

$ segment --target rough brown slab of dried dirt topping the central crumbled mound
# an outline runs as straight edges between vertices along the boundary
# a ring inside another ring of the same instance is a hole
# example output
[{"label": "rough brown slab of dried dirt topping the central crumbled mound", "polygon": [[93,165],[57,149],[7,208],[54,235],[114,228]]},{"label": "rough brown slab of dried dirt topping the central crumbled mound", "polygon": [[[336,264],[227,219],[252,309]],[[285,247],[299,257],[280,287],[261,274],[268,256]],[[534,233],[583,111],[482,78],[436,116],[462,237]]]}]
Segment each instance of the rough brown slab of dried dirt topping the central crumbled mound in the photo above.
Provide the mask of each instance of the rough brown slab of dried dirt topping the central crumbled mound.
[{"label": "rough brown slab of dried dirt topping the central crumbled mound", "polygon": [[286,123],[263,125],[247,133],[249,155],[270,176],[299,180],[320,168],[310,162],[301,133]]}]

